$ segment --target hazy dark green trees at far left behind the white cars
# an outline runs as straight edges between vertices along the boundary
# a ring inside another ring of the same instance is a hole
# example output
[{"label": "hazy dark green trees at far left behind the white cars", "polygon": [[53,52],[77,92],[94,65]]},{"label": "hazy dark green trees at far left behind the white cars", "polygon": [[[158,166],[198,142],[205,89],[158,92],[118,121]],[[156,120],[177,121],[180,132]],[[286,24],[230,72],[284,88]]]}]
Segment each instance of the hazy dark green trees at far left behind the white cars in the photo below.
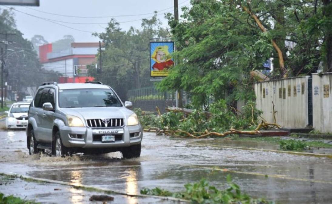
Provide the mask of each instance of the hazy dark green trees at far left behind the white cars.
[{"label": "hazy dark green trees at far left behind the white cars", "polygon": [[[15,16],[11,10],[0,9],[0,46],[4,50],[4,81],[8,88],[17,91],[24,97],[27,87],[38,87],[41,82],[57,80],[58,74],[41,69],[38,55],[31,41],[23,37],[16,28]],[[5,50],[5,34],[7,35],[7,51]]]}]

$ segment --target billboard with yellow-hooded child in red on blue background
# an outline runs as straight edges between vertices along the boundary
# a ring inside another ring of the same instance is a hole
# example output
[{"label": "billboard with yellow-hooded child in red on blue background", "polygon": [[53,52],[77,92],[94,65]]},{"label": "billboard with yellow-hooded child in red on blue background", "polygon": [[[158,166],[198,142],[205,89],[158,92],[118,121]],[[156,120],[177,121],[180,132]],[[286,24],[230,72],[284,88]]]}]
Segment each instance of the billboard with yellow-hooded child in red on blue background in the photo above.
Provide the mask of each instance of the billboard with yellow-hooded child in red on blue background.
[{"label": "billboard with yellow-hooded child in red on blue background", "polygon": [[150,42],[151,77],[168,76],[168,69],[174,66],[173,52],[174,42]]}]

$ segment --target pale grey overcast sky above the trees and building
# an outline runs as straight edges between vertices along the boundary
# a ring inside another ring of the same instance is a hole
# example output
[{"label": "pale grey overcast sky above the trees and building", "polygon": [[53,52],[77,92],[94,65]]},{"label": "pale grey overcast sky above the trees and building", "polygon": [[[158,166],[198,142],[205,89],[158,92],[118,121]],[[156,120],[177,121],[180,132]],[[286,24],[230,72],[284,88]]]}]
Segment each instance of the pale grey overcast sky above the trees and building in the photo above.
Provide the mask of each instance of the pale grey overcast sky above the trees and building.
[{"label": "pale grey overcast sky above the trees and building", "polygon": [[[190,0],[178,2],[181,8],[188,6]],[[39,34],[48,42],[54,42],[69,34],[76,42],[98,42],[99,39],[91,33],[103,32],[112,16],[118,16],[114,18],[127,30],[130,26],[139,28],[142,18],[151,18],[154,11],[160,11],[158,18],[163,26],[167,26],[164,13],[174,13],[174,0],[40,0],[39,7],[10,7],[17,10],[14,10],[17,28],[29,40]],[[0,8],[7,9],[4,6]]]}]

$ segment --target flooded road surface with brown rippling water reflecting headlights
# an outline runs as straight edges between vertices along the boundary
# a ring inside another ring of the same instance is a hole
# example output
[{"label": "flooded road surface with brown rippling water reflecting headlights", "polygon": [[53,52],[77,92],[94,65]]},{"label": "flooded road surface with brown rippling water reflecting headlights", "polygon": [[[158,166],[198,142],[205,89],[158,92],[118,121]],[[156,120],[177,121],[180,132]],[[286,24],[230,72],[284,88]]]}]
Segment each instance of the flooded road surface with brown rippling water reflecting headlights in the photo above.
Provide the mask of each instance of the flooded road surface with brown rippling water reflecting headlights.
[{"label": "flooded road surface with brown rippling water reflecting headlights", "polygon": [[[0,172],[3,173],[92,185],[129,194],[156,186],[181,191],[184,184],[201,178],[224,188],[226,176],[231,174],[233,181],[253,197],[265,197],[278,203],[330,203],[332,200],[332,159],[326,157],[221,148],[218,145],[245,144],[223,139],[172,139],[154,133],[144,133],[141,157],[127,160],[122,159],[119,152],[65,158],[29,156],[24,131],[1,131],[0,141]],[[249,146],[260,148],[261,144],[251,142]],[[125,202],[145,201],[128,199]]]}]

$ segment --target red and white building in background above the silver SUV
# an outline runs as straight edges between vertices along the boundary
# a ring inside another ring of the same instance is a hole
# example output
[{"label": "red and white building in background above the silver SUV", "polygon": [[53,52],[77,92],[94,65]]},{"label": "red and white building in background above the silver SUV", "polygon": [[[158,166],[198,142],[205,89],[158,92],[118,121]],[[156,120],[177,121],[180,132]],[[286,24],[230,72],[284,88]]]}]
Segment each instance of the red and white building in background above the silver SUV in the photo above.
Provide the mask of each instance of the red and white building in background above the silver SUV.
[{"label": "red and white building in background above the silver SUV", "polygon": [[98,42],[74,42],[71,48],[52,51],[52,44],[39,46],[39,59],[45,70],[60,73],[60,83],[84,83],[94,80],[88,76],[87,65],[96,62]]}]

